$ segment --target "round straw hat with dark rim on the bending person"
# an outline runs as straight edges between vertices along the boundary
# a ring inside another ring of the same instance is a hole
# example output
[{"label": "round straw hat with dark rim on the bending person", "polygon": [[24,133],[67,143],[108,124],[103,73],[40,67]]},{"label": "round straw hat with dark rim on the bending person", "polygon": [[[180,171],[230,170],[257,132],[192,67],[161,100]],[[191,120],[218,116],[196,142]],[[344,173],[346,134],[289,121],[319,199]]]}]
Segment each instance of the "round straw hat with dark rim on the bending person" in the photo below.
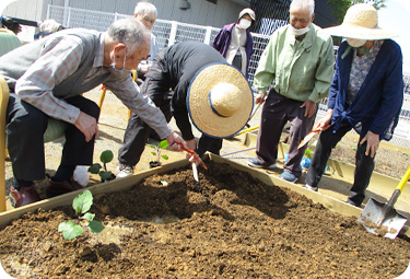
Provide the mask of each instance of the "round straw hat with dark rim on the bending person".
[{"label": "round straw hat with dark rim on the bending person", "polygon": [[254,94],[244,74],[229,63],[210,63],[191,80],[188,113],[195,127],[213,138],[242,130],[254,107]]}]

